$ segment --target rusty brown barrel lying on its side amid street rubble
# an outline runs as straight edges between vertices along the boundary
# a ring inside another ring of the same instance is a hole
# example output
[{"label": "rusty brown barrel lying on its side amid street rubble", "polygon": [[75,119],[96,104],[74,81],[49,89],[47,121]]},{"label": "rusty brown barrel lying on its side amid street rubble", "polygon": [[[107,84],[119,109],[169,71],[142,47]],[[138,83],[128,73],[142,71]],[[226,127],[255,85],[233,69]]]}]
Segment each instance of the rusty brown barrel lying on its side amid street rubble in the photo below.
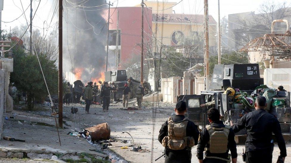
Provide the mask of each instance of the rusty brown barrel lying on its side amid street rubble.
[{"label": "rusty brown barrel lying on its side amid street rubble", "polygon": [[86,128],[89,131],[92,141],[95,140],[108,140],[110,138],[110,128],[107,123],[98,124],[93,127]]}]

